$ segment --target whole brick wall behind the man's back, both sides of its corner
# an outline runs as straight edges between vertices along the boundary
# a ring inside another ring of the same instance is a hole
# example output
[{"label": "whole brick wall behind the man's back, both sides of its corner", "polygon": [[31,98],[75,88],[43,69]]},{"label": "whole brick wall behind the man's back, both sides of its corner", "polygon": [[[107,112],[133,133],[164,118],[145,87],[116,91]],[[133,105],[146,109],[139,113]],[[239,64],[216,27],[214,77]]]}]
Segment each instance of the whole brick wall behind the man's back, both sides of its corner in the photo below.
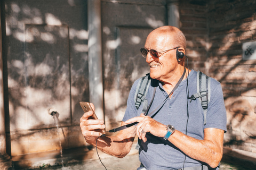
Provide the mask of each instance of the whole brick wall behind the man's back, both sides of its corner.
[{"label": "whole brick wall behind the man's back, both sides of its corner", "polygon": [[222,84],[228,118],[225,146],[252,152],[256,152],[256,60],[243,60],[242,45],[256,41],[255,6],[253,0],[180,1],[190,69]]}]

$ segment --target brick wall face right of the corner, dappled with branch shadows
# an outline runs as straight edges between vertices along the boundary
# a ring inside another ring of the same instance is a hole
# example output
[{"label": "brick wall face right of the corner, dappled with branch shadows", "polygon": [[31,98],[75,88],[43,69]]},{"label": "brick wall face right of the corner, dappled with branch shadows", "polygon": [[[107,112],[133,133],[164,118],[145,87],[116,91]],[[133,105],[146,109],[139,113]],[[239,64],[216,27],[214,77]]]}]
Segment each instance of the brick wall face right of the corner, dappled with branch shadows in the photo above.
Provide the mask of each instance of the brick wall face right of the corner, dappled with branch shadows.
[{"label": "brick wall face right of the corner, dappled with branch shadows", "polygon": [[209,21],[209,73],[221,82],[225,97],[228,128],[225,145],[255,152],[256,62],[242,59],[242,44],[255,41],[255,10],[248,8],[255,4],[223,3],[218,8],[210,7],[209,11],[209,16],[215,16]]}]

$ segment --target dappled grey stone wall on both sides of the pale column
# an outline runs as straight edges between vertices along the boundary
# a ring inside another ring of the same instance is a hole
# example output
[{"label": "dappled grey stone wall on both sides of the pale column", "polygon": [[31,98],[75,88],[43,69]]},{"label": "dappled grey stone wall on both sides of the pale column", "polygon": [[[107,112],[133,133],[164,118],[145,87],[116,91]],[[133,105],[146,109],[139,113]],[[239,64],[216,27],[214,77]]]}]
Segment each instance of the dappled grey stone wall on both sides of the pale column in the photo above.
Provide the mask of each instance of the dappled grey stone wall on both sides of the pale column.
[{"label": "dappled grey stone wall on both sides of the pale column", "polygon": [[[101,1],[106,129],[121,124],[133,81],[149,72],[140,48],[166,24],[165,4]],[[8,154],[60,149],[58,133],[63,149],[86,146],[79,101],[90,101],[87,1],[5,0],[1,14]]]}]

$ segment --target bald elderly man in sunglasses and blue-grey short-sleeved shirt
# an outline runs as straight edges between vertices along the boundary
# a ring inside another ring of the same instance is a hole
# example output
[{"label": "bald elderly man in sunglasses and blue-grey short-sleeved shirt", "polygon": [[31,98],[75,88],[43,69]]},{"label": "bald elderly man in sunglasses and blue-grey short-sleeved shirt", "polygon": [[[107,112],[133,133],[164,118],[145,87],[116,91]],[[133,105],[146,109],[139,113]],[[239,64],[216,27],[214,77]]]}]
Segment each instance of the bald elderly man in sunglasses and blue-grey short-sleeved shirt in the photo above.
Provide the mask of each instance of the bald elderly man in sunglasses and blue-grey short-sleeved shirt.
[{"label": "bald elderly man in sunglasses and blue-grey short-sleeved shirt", "polygon": [[196,93],[197,72],[185,67],[185,57],[179,56],[180,52],[186,52],[186,38],[178,28],[164,26],[150,32],[141,53],[150,66],[150,78],[157,82],[155,95],[150,84],[146,96],[149,101],[154,98],[150,106],[150,111],[156,109],[154,116],[145,116],[142,106],[137,109],[134,105],[137,80],[130,91],[122,125],[138,124],[115,136],[100,137],[99,129],[105,128],[103,120],[89,120],[92,112],[87,112],[80,124],[85,140],[95,146],[100,137],[100,150],[122,158],[131,150],[137,135],[141,162],[138,169],[219,169],[226,131],[221,85],[211,78],[205,123],[199,99],[188,99],[189,94]]}]

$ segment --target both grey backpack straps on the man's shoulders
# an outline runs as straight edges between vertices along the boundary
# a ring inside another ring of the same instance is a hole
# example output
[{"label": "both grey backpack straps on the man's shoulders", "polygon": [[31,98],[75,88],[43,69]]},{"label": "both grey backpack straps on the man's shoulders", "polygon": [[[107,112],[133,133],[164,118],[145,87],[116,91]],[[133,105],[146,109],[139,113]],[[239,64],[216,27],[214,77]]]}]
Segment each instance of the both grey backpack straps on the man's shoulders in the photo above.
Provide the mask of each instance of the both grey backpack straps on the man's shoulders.
[{"label": "both grey backpack straps on the man's shoulders", "polygon": [[[145,112],[148,108],[148,100],[146,98],[149,84],[151,83],[151,78],[149,73],[146,74],[145,77],[140,78],[139,83],[137,85],[137,89],[134,95],[134,103],[135,107],[139,109],[140,105],[143,105],[142,111]],[[211,78],[202,73],[201,71],[197,71],[197,79],[196,79],[196,86],[197,86],[197,93],[191,95],[188,99],[190,102],[192,100],[196,100],[196,98],[200,98],[200,102],[204,111],[204,125],[206,124],[206,114],[208,104],[211,98]]]}]

